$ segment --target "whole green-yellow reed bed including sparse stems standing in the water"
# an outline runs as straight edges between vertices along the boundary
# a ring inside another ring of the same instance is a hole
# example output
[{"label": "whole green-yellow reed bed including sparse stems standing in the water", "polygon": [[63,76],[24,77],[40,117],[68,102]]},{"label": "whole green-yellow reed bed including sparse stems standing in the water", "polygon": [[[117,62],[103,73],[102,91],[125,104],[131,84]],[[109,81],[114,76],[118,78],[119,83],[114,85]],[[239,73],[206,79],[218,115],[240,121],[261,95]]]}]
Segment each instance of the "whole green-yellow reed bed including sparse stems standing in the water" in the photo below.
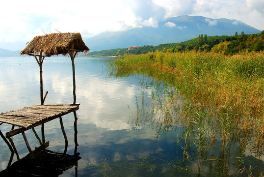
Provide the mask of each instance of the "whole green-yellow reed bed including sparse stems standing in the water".
[{"label": "whole green-yellow reed bed including sparse stems standing in the water", "polygon": [[[176,142],[184,142],[183,162],[191,158],[190,147],[196,147],[199,173],[202,163],[215,161],[218,174],[228,176],[231,159],[248,172],[251,167],[246,168],[242,159],[246,148],[263,155],[263,52],[225,56],[157,51],[121,57],[109,68],[116,76],[139,73],[156,79],[151,87],[151,110],[142,106],[142,94],[141,106],[136,102],[140,114],[133,121],[151,122],[157,138],[174,126],[184,127]],[[234,142],[239,148],[236,156],[229,157]],[[210,157],[216,144],[220,144],[221,155]]]}]

